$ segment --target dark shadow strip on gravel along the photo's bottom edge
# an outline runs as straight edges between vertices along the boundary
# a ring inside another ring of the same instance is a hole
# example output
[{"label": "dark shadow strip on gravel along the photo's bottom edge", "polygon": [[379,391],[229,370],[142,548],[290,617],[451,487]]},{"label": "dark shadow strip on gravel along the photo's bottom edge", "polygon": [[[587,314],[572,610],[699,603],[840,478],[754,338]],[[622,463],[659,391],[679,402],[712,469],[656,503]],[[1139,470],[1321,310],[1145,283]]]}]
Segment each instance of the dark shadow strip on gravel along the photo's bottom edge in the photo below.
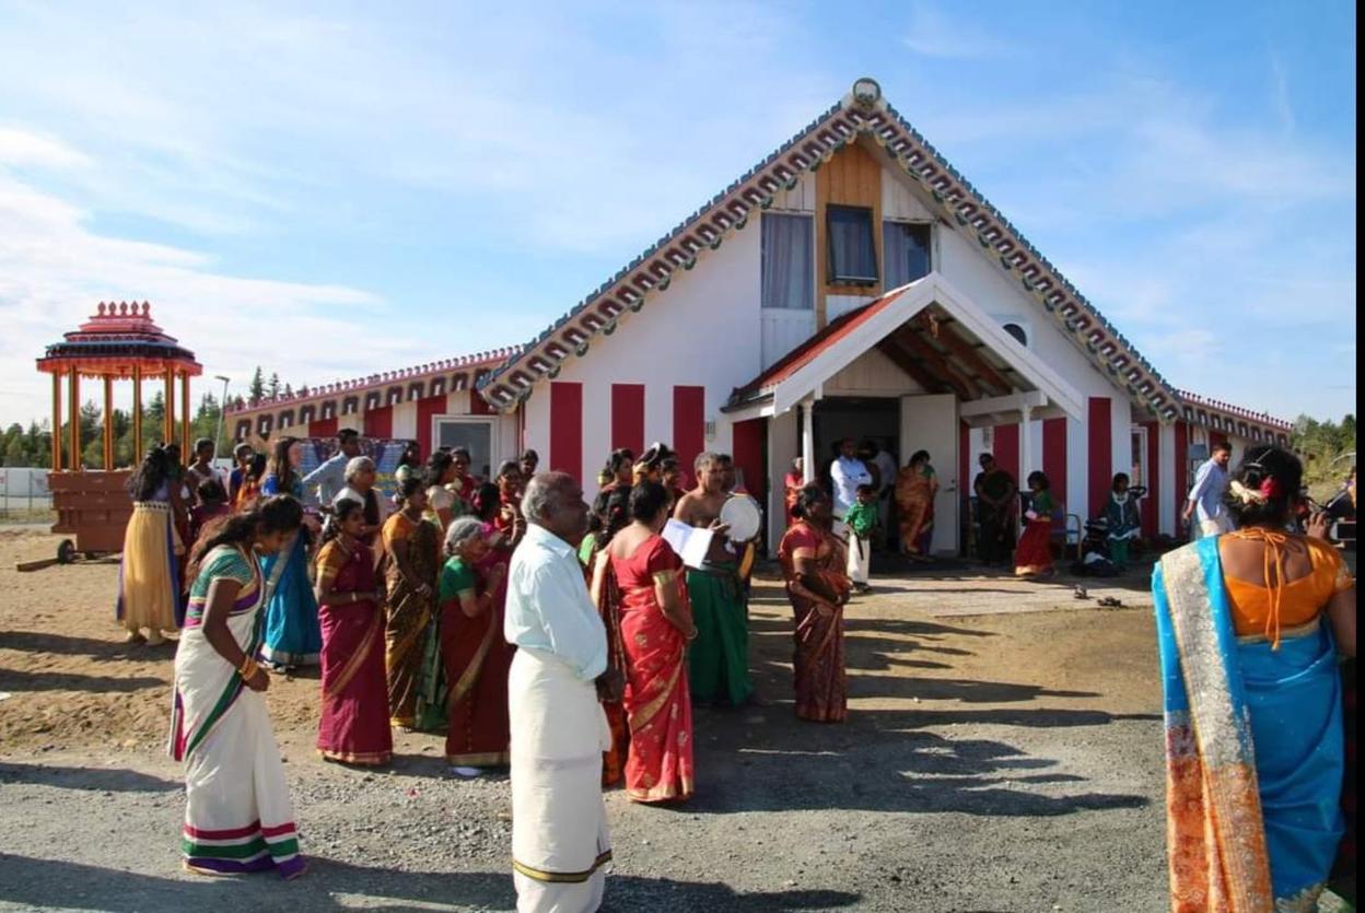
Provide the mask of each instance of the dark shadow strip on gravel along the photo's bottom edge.
[{"label": "dark shadow strip on gravel along the photo's bottom edge", "polygon": [[[0,901],[68,910],[164,909],[287,909],[298,913],[356,909],[429,909],[427,905],[464,905],[508,910],[515,903],[509,872],[423,873],[351,865],[311,858],[308,873],[296,882],[273,875],[176,880],[117,869],[55,863],[0,853]],[[607,879],[603,910],[829,910],[860,899],[846,891],[790,890],[738,894],[721,883],[676,882],[629,875]]]}]

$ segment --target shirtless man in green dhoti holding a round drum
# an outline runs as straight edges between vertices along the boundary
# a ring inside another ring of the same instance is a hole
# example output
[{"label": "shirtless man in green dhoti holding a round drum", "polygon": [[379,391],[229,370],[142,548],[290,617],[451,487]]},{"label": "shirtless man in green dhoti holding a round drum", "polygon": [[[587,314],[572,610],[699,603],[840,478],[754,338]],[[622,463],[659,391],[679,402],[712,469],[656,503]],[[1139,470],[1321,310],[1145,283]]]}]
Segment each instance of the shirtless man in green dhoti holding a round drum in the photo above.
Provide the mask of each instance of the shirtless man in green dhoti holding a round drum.
[{"label": "shirtless man in green dhoti holding a round drum", "polygon": [[743,543],[730,545],[721,521],[726,491],[725,463],[717,453],[696,457],[696,487],[673,508],[673,519],[710,530],[710,549],[700,568],[687,569],[696,640],[688,651],[688,684],[696,701],[726,700],[738,707],[753,693],[749,681],[749,631],[740,577]]}]

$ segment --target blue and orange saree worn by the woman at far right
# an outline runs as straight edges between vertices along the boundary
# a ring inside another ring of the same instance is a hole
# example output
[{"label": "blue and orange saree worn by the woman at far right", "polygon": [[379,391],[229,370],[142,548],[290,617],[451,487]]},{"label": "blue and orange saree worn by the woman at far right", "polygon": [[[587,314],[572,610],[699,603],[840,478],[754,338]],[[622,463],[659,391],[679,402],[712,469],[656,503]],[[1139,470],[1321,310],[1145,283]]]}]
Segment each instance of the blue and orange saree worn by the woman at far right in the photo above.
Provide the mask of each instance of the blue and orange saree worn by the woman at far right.
[{"label": "blue and orange saree worn by the woman at far right", "polygon": [[1238,639],[1218,539],[1153,573],[1166,715],[1171,909],[1316,910],[1340,839],[1342,718],[1330,629]]}]

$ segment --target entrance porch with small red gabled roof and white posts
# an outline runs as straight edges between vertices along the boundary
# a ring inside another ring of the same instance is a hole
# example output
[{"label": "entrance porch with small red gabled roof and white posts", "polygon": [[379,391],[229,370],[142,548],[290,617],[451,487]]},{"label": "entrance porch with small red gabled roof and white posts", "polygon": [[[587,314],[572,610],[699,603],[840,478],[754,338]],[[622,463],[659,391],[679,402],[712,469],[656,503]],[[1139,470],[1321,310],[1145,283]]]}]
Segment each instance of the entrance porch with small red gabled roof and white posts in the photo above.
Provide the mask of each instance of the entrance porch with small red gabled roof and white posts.
[{"label": "entrance porch with small red gabled roof and white posts", "polygon": [[782,478],[797,456],[805,480],[827,476],[841,438],[872,439],[904,467],[927,450],[938,472],[934,550],[961,550],[971,491],[972,427],[1018,424],[1021,479],[1035,419],[1084,420],[1085,398],[979,303],[938,273],[842,314],[726,404],[733,422],[763,422],[768,546],[785,531]]}]

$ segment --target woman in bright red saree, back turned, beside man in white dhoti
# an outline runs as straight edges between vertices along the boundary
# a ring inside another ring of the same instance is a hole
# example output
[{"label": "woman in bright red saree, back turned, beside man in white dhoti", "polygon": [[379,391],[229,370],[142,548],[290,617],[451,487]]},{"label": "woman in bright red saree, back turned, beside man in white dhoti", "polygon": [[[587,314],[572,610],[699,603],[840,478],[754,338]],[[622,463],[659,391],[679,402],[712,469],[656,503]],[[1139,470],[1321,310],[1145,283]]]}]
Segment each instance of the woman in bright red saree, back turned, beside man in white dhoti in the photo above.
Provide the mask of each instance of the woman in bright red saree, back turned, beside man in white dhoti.
[{"label": "woman in bright red saree, back turned, beside man in white dhoti", "polygon": [[635,802],[681,802],[695,787],[687,644],[696,625],[682,560],[659,535],[673,498],[663,484],[642,482],[631,490],[629,515],[603,550],[591,588],[610,610],[607,663],[621,662],[614,667],[627,680],[625,794]]}]

